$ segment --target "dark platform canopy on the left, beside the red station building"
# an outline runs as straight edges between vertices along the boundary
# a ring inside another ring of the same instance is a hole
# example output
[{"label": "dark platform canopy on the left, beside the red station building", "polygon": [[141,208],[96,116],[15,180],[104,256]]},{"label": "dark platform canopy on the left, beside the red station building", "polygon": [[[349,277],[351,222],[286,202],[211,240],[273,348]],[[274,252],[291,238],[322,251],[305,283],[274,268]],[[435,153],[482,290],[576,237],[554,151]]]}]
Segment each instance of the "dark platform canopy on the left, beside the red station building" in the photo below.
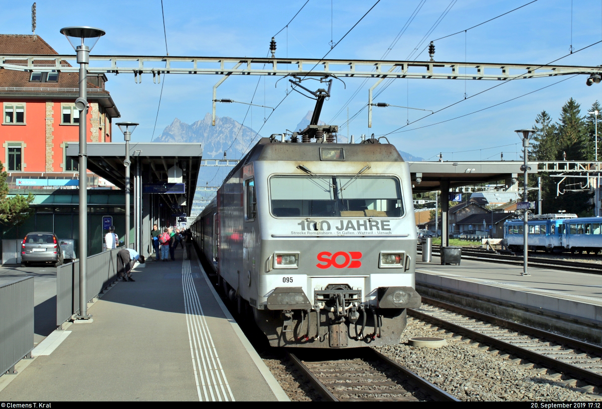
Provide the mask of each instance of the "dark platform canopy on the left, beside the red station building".
[{"label": "dark platform canopy on the left, beside the red station building", "polygon": [[[88,170],[105,178],[115,186],[125,187],[125,142],[88,142]],[[69,142],[66,156],[78,161],[79,142]],[[134,191],[134,177],[137,163],[140,163],[142,184],[167,183],[167,170],[174,165],[182,169],[182,183],[185,183],[187,213],[190,214],[194,198],[200,160],[203,149],[200,143],[134,143],[129,144],[131,164],[131,186]],[[179,193],[161,193],[167,205],[178,204]]]}]

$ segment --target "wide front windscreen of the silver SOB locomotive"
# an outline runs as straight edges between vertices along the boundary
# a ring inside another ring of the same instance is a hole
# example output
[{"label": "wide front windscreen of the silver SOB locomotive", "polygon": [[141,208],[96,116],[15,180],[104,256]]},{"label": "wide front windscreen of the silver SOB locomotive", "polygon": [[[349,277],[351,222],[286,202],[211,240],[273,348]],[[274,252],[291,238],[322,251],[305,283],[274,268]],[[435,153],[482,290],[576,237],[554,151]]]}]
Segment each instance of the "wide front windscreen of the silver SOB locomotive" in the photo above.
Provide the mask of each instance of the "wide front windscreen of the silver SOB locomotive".
[{"label": "wide front windscreen of the silver SOB locomotive", "polygon": [[399,180],[393,176],[273,176],[276,217],[401,217]]}]

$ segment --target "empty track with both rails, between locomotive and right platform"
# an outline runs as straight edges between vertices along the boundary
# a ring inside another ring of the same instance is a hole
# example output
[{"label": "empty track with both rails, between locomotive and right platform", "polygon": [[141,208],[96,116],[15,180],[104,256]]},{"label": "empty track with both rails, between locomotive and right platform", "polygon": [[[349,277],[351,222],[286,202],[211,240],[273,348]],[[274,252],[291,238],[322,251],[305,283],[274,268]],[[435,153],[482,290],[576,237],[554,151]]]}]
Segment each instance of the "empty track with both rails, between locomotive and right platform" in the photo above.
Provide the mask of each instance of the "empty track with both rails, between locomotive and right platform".
[{"label": "empty track with both rails, between locomotive and right platform", "polygon": [[559,373],[551,375],[554,379],[560,380],[562,374],[572,376],[563,380],[570,386],[576,386],[579,380],[585,383],[580,387],[587,392],[591,393],[594,386],[602,389],[600,346],[427,297],[423,297],[421,308],[408,310],[408,315],[438,326],[441,332],[451,331],[445,334],[447,337],[467,337],[467,342],[482,344],[476,345],[478,348],[514,355],[527,367],[538,364],[543,367],[541,373],[556,370]]}]

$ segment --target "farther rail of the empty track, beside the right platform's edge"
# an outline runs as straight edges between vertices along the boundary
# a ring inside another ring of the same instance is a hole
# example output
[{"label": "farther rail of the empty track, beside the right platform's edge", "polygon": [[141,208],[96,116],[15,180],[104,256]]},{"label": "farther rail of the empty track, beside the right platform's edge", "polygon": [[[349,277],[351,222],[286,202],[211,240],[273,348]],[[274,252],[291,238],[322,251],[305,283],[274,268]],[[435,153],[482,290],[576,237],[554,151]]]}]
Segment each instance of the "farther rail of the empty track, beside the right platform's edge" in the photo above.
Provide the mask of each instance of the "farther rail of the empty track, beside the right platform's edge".
[{"label": "farther rail of the empty track, beside the right platform's edge", "polygon": [[466,316],[471,316],[483,321],[492,322],[495,325],[505,326],[506,328],[514,329],[515,331],[520,331],[521,333],[529,334],[538,338],[544,338],[552,342],[569,346],[570,348],[581,349],[582,351],[588,352],[589,354],[600,355],[600,357],[602,357],[602,347],[598,345],[565,337],[559,334],[550,333],[548,331],[544,331],[543,329],[533,328],[529,325],[524,325],[517,322],[501,319],[489,314],[480,313],[479,311],[469,310],[468,308],[448,304],[447,302],[439,301],[433,298],[423,296],[422,299],[427,304],[435,305],[435,307],[442,307],[446,310],[455,311],[456,313],[460,313]]}]

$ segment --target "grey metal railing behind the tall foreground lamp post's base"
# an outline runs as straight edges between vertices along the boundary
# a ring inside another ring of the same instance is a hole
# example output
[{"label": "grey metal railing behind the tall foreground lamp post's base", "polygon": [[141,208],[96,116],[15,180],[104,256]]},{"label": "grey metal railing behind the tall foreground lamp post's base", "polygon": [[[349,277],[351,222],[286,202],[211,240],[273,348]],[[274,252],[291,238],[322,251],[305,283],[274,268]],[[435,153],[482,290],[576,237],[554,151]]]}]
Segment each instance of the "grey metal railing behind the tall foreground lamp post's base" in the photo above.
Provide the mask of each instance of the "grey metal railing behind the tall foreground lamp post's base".
[{"label": "grey metal railing behind the tall foreground lamp post's base", "polygon": [[[117,253],[123,247],[88,257],[86,298],[90,302],[117,279]],[[57,267],[57,326],[79,313],[79,260]]]}]

